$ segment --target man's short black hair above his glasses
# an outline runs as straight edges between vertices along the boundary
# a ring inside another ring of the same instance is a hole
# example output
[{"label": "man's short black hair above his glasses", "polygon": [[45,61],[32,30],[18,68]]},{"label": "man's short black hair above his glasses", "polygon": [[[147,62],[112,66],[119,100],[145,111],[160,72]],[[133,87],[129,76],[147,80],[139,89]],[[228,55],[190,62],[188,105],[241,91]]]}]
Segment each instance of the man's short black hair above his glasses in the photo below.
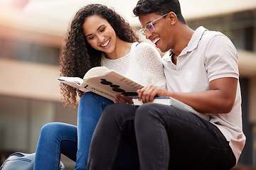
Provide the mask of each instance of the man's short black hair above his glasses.
[{"label": "man's short black hair above his glasses", "polygon": [[156,13],[164,15],[174,12],[181,23],[186,24],[181,13],[181,5],[178,0],[139,0],[133,13],[135,16],[141,16],[147,13]]}]

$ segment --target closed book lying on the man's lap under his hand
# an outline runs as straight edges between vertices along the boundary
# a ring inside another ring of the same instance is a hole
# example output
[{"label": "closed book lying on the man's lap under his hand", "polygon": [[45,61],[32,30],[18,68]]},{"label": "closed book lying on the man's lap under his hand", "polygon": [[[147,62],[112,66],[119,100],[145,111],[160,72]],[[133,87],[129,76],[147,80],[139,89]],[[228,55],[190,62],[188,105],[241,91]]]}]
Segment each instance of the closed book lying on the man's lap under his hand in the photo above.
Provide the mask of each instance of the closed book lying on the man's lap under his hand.
[{"label": "closed book lying on the man's lap under his hand", "polygon": [[[134,106],[141,106],[143,104],[142,101],[139,101],[139,99],[137,97],[134,97],[133,101],[134,101]],[[205,120],[210,120],[209,115],[206,115],[203,113],[198,113],[191,106],[188,106],[187,104],[182,103],[181,101],[178,101],[172,97],[156,97],[156,98],[154,98],[153,103],[160,103],[160,104],[164,104],[164,105],[174,106],[183,111],[188,111],[188,112],[194,113]]]}]

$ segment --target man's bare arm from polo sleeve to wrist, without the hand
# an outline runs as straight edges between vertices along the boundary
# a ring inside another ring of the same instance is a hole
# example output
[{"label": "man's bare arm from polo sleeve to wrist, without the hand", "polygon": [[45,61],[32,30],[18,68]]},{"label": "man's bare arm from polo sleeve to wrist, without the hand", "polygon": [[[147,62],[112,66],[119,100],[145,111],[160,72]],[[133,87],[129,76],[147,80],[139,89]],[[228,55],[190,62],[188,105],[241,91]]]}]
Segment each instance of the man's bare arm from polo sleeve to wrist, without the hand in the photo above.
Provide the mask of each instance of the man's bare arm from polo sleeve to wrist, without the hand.
[{"label": "man's bare arm from polo sleeve to wrist, without the hand", "polygon": [[170,95],[200,113],[229,113],[235,103],[238,79],[222,78],[210,81],[210,90]]}]

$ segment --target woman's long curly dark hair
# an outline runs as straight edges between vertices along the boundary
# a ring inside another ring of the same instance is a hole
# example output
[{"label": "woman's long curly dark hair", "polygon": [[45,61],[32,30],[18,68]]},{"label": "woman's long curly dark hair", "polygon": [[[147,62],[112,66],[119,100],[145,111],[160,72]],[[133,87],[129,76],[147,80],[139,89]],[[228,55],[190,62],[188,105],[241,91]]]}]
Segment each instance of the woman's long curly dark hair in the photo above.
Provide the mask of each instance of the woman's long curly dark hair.
[{"label": "woman's long curly dark hair", "polygon": [[[105,18],[121,40],[125,42],[139,41],[129,23],[125,22],[124,18],[119,16],[114,9],[101,4],[84,6],[75,14],[70,23],[68,34],[60,50],[60,76],[82,78],[89,69],[100,66],[102,52],[90,46],[82,29],[85,18],[94,15]],[[77,106],[77,97],[84,94],[82,91],[63,83],[60,84],[60,91],[65,106]]]}]

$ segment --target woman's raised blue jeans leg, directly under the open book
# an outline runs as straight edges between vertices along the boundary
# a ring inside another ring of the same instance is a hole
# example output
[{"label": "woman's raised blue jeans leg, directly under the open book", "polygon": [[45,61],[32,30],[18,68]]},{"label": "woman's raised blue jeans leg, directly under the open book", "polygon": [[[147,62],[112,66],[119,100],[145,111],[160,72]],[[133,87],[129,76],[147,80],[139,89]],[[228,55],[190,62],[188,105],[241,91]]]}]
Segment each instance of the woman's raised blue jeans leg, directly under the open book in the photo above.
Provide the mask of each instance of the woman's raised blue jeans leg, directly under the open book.
[{"label": "woman's raised blue jeans leg, directly under the open book", "polygon": [[87,92],[82,95],[78,107],[78,153],[77,169],[86,169],[90,142],[104,108],[114,103],[107,98]]}]

